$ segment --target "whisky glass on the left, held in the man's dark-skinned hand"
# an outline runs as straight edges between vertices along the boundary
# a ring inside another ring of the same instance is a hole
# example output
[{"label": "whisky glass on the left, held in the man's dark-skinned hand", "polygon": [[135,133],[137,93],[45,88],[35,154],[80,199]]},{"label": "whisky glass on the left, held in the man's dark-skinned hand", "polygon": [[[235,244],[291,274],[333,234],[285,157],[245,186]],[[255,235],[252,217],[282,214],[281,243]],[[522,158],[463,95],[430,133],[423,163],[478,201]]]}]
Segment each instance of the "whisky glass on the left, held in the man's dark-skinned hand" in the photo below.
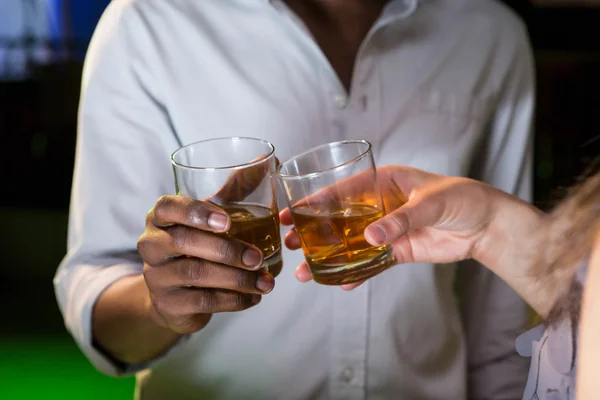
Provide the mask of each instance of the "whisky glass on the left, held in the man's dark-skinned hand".
[{"label": "whisky glass on the left, held in the man's dark-skinned hand", "polygon": [[180,196],[221,207],[231,218],[222,237],[256,246],[263,268],[281,271],[281,235],[276,197],[275,147],[264,140],[225,137],[192,143],[171,156]]}]

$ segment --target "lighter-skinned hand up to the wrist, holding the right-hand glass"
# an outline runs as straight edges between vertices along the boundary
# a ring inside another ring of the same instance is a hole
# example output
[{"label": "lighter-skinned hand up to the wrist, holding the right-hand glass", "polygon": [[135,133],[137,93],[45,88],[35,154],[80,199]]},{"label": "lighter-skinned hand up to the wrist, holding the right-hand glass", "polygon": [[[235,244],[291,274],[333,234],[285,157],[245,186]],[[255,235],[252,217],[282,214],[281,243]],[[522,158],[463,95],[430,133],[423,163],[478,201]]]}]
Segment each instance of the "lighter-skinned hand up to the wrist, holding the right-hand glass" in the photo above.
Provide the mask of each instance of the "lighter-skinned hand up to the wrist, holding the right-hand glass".
[{"label": "lighter-skinned hand up to the wrist, holding the right-hand glass", "polygon": [[[494,189],[470,179],[403,166],[383,167],[377,174],[388,215],[365,230],[370,244],[391,244],[399,264],[447,263],[473,257],[494,217],[489,199]],[[361,177],[341,184],[360,190]],[[281,213],[281,223],[292,224],[289,210]],[[285,244],[293,250],[300,248],[295,230],[288,233]],[[297,268],[296,277],[303,282],[311,279],[307,263]]]}]

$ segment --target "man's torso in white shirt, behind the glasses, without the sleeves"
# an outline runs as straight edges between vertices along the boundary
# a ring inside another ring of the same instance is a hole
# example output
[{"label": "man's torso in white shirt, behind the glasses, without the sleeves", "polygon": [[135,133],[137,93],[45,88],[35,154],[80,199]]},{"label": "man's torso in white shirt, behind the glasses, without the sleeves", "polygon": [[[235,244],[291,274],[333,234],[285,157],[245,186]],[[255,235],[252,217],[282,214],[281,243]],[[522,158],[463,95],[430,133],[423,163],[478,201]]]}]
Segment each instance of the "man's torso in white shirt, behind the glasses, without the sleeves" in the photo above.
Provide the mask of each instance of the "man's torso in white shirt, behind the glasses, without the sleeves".
[{"label": "man's torso in white shirt, behind the glasses, without the sleeves", "polygon": [[[473,11],[465,23],[462,2],[390,2],[360,46],[349,91],[282,3],[132,3],[123,16],[132,65],[173,128],[156,157],[219,136],[268,140],[280,159],[366,139],[379,166],[469,175],[509,68],[497,22]],[[454,268],[398,266],[346,293],[296,282],[301,261],[285,251],[260,306],[215,315],[140,374],[142,398],[465,397]]]}]

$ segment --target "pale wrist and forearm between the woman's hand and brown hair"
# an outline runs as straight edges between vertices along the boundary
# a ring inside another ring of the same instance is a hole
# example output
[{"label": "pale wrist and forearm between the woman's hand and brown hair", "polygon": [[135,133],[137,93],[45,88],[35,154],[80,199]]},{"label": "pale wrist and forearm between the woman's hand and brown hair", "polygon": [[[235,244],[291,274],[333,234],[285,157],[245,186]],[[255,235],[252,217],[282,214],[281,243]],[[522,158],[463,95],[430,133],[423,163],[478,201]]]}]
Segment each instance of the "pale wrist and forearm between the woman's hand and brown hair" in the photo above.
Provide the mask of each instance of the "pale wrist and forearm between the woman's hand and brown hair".
[{"label": "pale wrist and forearm between the woman's hand and brown hair", "polygon": [[540,316],[546,317],[560,277],[539,279],[534,267],[545,214],[536,207],[490,188],[494,217],[474,250],[474,258],[504,280]]}]

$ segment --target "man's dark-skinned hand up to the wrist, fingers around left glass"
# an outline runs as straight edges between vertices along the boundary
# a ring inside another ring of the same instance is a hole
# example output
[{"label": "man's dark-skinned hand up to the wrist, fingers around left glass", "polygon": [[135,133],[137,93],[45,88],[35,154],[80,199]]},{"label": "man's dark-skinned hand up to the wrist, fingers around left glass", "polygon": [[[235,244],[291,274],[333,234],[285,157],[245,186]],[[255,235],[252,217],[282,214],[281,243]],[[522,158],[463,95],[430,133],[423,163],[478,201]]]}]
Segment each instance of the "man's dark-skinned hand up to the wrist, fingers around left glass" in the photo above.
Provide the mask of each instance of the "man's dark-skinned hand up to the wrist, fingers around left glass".
[{"label": "man's dark-skinned hand up to the wrist, fingers around left glass", "polygon": [[138,251],[158,324],[196,332],[211,314],[248,309],[273,289],[255,246],[216,235],[230,225],[216,205],[180,196],[162,197],[148,213]]}]

